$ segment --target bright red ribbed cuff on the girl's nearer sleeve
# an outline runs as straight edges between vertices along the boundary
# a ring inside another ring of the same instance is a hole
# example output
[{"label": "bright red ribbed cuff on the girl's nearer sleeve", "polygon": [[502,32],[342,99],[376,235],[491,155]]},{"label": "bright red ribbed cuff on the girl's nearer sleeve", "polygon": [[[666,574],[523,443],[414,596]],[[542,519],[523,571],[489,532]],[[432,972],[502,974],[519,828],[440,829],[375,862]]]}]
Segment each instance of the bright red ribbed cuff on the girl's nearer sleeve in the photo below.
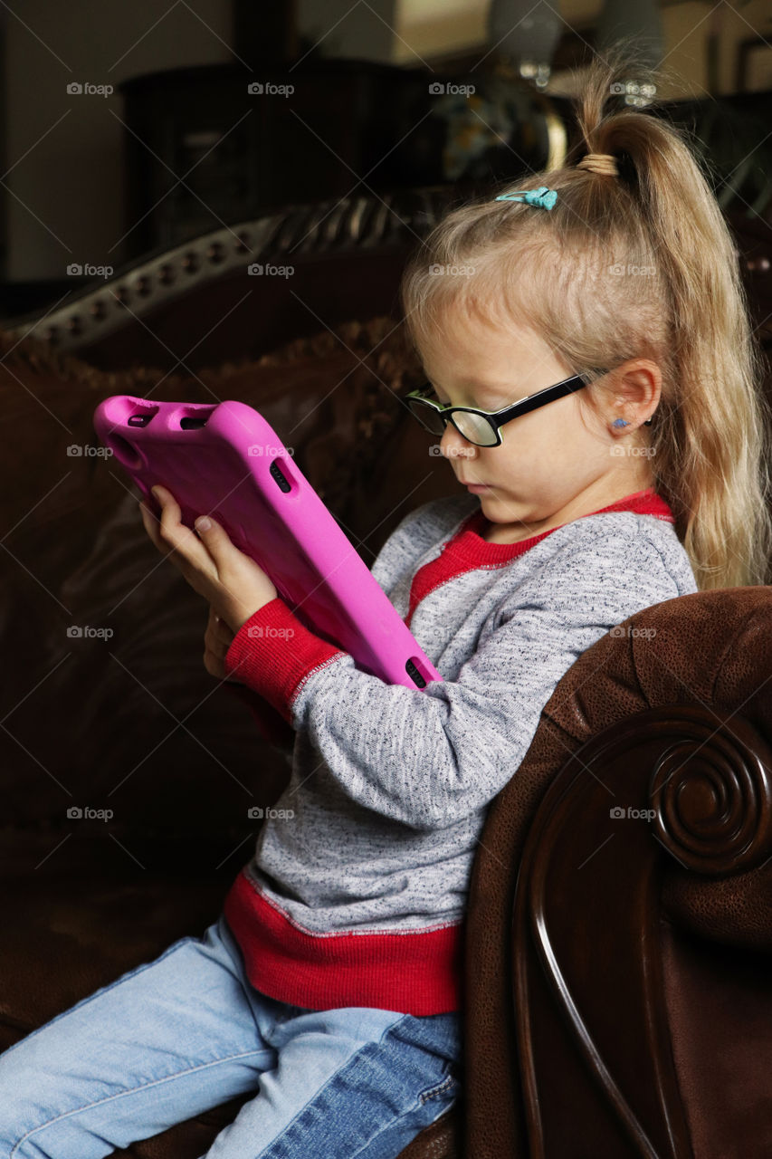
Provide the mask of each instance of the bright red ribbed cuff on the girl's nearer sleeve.
[{"label": "bright red ribbed cuff on the girl's nearer sleeve", "polygon": [[300,681],[333,657],[345,655],[309,632],[277,596],[241,625],[225,656],[225,670],[292,723],[290,706]]}]

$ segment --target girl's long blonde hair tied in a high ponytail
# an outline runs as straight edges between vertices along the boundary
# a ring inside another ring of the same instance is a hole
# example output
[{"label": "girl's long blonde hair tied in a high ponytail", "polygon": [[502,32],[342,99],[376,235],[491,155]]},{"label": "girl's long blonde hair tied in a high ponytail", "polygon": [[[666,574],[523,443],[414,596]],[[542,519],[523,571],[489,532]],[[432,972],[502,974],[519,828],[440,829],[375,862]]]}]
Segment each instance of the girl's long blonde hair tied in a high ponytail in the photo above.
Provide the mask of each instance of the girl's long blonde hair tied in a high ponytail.
[{"label": "girl's long blonde hair tied in a high ponytail", "polygon": [[[407,337],[421,357],[442,341],[449,307],[461,306],[489,326],[530,327],[569,373],[651,358],[662,394],[636,438],[651,449],[655,490],[697,585],[763,584],[772,549],[764,364],[707,162],[685,130],[650,114],[657,102],[605,111],[641,72],[628,45],[596,57],[566,163],[459,205],[431,231],[402,277]],[[614,155],[618,175],[577,168],[587,153]],[[558,190],[549,211],[494,199],[539,185]],[[437,277],[432,265],[469,272]],[[589,394],[593,404],[599,377],[588,373],[580,402]]]}]

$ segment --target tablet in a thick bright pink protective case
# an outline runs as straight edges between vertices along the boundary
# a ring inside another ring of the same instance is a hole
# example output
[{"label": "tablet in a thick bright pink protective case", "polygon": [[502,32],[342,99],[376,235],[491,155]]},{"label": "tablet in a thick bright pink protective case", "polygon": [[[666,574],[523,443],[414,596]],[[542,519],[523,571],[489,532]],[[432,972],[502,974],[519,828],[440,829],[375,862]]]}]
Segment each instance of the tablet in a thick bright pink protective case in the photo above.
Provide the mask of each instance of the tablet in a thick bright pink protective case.
[{"label": "tablet in a thick bright pink protective case", "polygon": [[298,619],[387,684],[425,688],[442,676],[327,510],[276,431],[243,402],[104,399],[94,429],[160,515],[167,487],[192,530],[212,515],[270,576]]}]

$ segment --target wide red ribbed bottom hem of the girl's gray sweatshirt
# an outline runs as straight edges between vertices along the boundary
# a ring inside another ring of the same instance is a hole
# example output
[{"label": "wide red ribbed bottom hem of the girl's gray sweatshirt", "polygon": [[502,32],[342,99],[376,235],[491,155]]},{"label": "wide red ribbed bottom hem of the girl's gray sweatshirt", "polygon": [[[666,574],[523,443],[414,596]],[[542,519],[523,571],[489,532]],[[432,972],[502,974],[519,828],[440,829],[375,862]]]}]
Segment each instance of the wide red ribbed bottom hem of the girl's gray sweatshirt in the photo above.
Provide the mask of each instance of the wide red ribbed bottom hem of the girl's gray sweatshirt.
[{"label": "wide red ribbed bottom hem of the girl's gray sweatshirt", "polygon": [[460,921],[399,934],[315,934],[269,901],[246,867],[224,914],[249,982],[269,998],[307,1009],[369,1006],[416,1015],[460,1006]]}]

